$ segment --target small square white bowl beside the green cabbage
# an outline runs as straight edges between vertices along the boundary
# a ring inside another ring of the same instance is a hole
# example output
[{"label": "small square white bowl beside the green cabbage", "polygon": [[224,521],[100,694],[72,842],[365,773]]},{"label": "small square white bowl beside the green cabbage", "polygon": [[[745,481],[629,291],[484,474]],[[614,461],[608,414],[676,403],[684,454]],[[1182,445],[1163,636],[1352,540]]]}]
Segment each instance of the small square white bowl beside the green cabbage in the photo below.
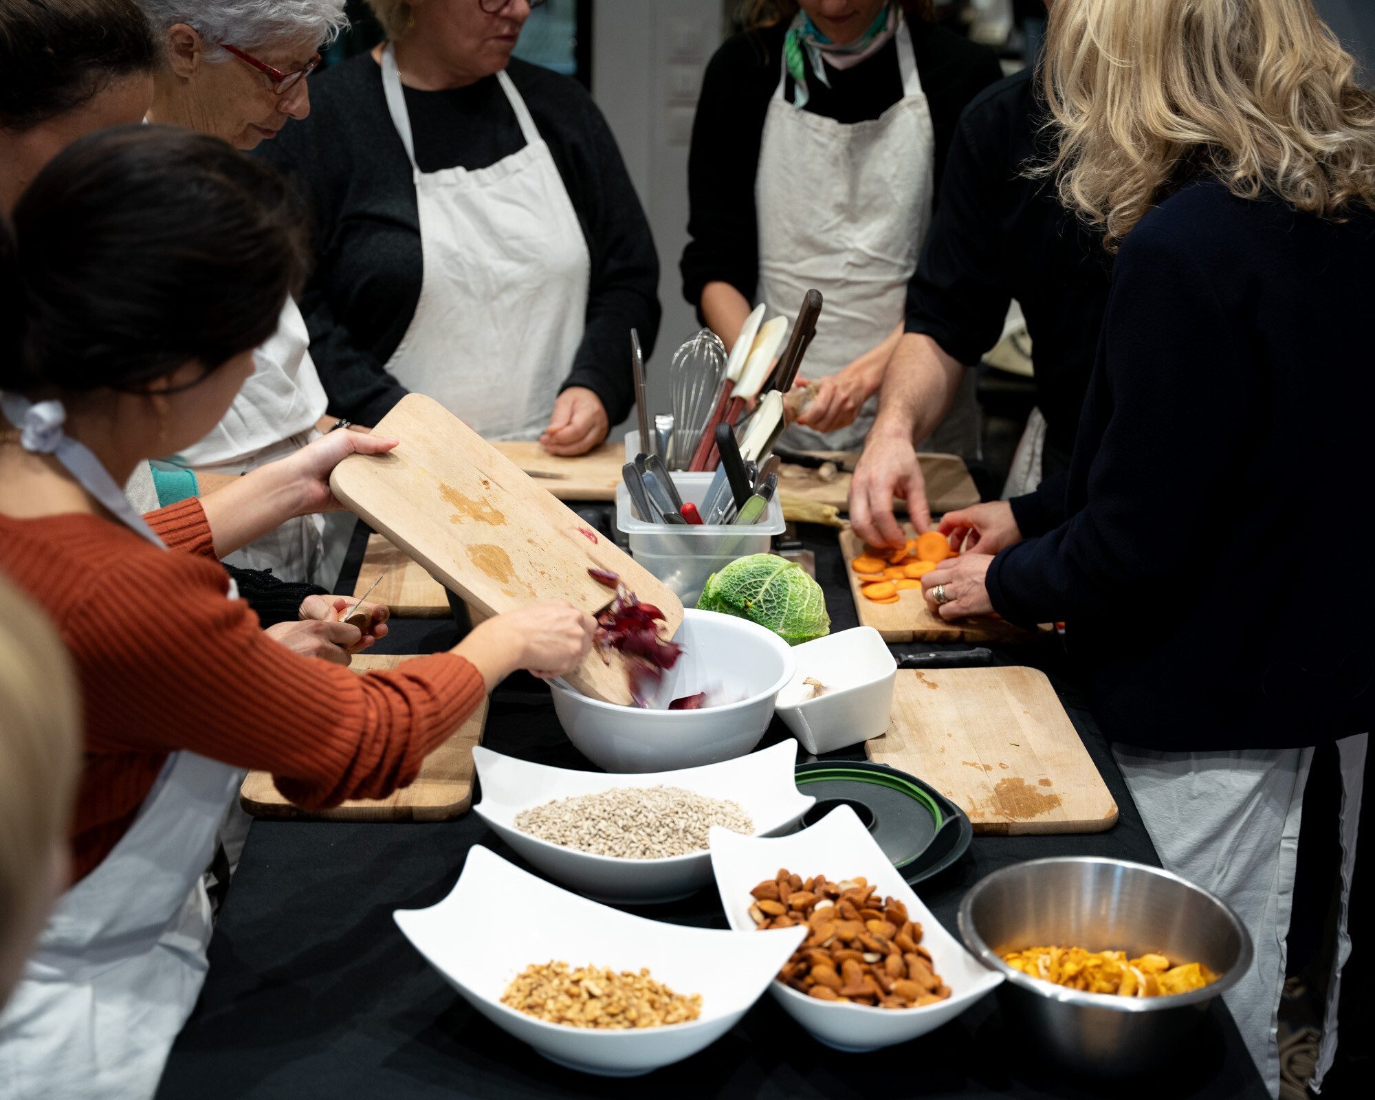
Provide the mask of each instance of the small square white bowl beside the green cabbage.
[{"label": "small square white bowl beside the green cabbage", "polygon": [[[792,654],[798,671],[778,692],[776,707],[807,752],[833,752],[887,733],[898,663],[877,630],[828,634],[795,646]],[[828,690],[799,703],[807,676]]]}]

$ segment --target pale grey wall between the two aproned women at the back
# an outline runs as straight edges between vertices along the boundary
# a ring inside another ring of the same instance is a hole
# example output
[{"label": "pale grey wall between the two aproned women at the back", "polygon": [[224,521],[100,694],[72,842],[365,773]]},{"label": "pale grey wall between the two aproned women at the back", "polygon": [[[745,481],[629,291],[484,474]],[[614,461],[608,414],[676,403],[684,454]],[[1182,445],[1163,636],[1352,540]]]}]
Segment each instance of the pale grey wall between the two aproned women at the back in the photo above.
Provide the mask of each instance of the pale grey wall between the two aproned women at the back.
[{"label": "pale grey wall between the two aproned women at the back", "polygon": [[593,98],[616,135],[659,249],[664,319],[648,371],[656,412],[671,411],[664,373],[700,327],[683,301],[678,260],[688,243],[688,144],[701,74],[720,44],[720,0],[593,4]]}]

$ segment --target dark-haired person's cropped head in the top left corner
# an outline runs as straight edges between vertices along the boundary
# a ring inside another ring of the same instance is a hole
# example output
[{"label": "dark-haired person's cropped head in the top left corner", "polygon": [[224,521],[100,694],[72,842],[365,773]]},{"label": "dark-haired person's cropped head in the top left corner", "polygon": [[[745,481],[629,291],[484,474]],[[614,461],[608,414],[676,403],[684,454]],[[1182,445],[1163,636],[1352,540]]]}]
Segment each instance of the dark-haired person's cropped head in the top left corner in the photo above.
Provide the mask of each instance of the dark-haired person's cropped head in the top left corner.
[{"label": "dark-haired person's cropped head in the top left corner", "polygon": [[142,121],[155,56],[136,0],[4,0],[0,210],[81,135]]}]

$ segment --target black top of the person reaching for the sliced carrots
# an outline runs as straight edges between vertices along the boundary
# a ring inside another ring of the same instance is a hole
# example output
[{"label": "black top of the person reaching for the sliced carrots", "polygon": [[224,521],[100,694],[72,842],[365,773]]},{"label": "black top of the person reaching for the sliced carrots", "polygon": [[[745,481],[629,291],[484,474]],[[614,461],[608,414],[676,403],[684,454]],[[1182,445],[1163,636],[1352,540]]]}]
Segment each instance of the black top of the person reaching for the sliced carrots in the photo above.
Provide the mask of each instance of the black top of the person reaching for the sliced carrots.
[{"label": "black top of the person reaching for the sliced carrots", "polygon": [[1099,238],[1060,206],[1053,180],[1023,173],[1049,153],[1037,139],[1042,122],[1030,70],[994,84],[960,118],[908,285],[908,331],[978,363],[1002,334],[1011,300],[1022,302],[1046,441],[1068,455],[1111,265]]}]

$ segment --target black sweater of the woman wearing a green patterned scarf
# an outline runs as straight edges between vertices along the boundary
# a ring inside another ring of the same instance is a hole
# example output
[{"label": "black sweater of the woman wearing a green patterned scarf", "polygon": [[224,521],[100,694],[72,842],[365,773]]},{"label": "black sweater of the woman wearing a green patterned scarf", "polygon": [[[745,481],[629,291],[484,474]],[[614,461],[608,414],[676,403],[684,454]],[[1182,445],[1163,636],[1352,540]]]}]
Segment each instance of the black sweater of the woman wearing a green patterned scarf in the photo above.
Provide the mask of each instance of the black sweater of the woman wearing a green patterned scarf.
[{"label": "black sweater of the woman wearing a green patterned scarf", "polygon": [[[998,59],[967,38],[932,23],[909,23],[917,74],[935,131],[936,184],[956,120],[965,104],[1002,70]],[[692,238],[683,249],[683,296],[701,309],[710,282],[726,282],[755,298],[759,283],[759,220],[755,175],[769,100],[778,87],[786,26],[736,34],[712,56],[703,78],[688,160]],[[852,69],[830,69],[828,88],[807,65],[808,100],[803,110],[837,122],[864,122],[902,99],[898,47],[890,41]],[[793,85],[784,95],[792,102]]]}]

